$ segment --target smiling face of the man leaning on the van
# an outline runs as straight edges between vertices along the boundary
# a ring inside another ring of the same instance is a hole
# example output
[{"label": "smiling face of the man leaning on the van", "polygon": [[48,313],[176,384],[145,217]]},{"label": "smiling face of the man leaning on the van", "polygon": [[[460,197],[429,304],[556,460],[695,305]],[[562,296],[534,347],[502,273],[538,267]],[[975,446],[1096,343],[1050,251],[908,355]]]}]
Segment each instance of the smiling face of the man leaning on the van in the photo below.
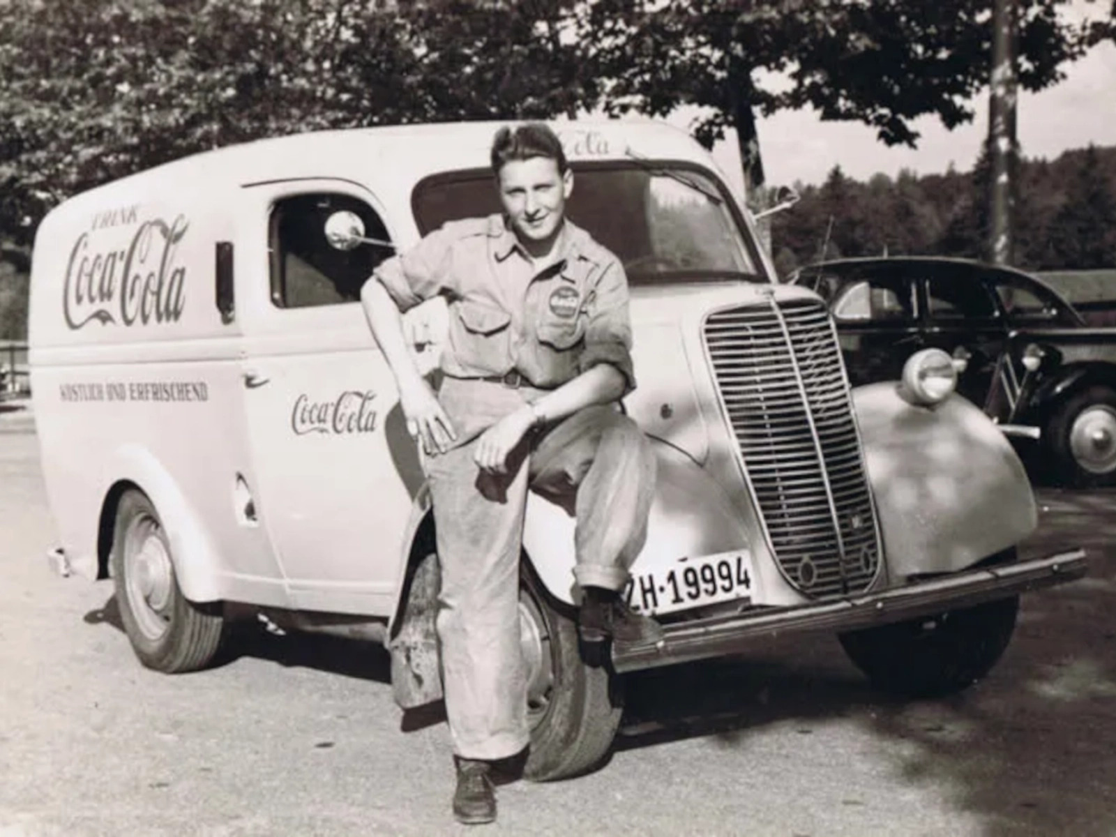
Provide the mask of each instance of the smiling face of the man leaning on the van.
[{"label": "smiling face of the man leaning on the van", "polygon": [[561,229],[574,175],[569,170],[559,174],[557,160],[509,161],[500,169],[498,181],[503,211],[521,239],[545,242]]}]

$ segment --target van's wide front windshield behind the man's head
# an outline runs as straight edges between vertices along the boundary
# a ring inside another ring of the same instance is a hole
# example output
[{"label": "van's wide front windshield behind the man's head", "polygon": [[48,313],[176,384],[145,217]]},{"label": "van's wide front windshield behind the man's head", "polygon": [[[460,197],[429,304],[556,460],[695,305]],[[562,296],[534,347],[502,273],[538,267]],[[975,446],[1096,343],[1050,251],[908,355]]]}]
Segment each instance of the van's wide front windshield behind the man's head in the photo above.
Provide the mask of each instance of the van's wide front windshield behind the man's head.
[{"label": "van's wide front windshield behind the man's head", "polygon": [[[574,165],[567,212],[624,263],[633,286],[694,279],[767,281],[712,176],[651,161]],[[423,234],[446,221],[500,212],[489,171],[437,175],[413,198]]]}]

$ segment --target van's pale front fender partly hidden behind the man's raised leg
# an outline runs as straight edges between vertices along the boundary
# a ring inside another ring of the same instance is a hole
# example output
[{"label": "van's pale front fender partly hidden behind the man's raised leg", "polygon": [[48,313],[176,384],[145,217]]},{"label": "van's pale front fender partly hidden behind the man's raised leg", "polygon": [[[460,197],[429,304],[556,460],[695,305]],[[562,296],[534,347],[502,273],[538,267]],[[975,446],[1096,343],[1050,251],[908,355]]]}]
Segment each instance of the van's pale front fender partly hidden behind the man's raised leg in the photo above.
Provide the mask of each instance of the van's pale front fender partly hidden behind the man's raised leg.
[{"label": "van's pale front fender partly hidden behind the man's raised leg", "polygon": [[[663,566],[684,556],[752,547],[747,520],[725,492],[692,459],[652,439],[657,478],[647,520],[647,541],[632,571]],[[550,594],[574,604],[575,520],[533,492],[528,494],[523,550]]]}]

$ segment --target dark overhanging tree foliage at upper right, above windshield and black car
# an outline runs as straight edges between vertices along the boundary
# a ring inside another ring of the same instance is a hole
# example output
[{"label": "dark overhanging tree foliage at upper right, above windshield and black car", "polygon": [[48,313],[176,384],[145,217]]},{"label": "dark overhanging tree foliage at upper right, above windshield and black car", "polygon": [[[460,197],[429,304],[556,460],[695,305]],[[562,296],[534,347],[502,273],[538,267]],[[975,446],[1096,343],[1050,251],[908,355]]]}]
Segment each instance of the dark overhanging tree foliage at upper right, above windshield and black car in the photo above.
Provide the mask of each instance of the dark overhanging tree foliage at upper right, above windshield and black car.
[{"label": "dark overhanging tree foliage at upper right, above windshield and black car", "polygon": [[[1037,90],[1099,37],[1059,10],[1069,0],[1019,0],[1019,81]],[[711,143],[751,114],[810,105],[856,119],[887,144],[914,145],[911,123],[935,114],[972,119],[987,86],[991,10],[985,0],[596,0],[585,33],[613,112],[665,115],[705,108],[695,128]],[[789,84],[788,84],[789,81]]]}]

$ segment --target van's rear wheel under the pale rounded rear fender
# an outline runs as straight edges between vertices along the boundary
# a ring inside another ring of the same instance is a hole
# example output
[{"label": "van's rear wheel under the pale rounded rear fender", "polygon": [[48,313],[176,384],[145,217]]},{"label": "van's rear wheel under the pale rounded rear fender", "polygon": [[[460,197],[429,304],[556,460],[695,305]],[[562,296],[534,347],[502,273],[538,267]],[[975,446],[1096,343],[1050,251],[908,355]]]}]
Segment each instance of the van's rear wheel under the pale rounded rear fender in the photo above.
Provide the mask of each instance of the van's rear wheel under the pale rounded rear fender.
[{"label": "van's rear wheel under the pale rounded rear fender", "polygon": [[195,605],[182,595],[158,512],[140,491],[121,497],[109,560],[121,620],[141,663],[179,673],[212,662],[223,636],[220,605]]}]

